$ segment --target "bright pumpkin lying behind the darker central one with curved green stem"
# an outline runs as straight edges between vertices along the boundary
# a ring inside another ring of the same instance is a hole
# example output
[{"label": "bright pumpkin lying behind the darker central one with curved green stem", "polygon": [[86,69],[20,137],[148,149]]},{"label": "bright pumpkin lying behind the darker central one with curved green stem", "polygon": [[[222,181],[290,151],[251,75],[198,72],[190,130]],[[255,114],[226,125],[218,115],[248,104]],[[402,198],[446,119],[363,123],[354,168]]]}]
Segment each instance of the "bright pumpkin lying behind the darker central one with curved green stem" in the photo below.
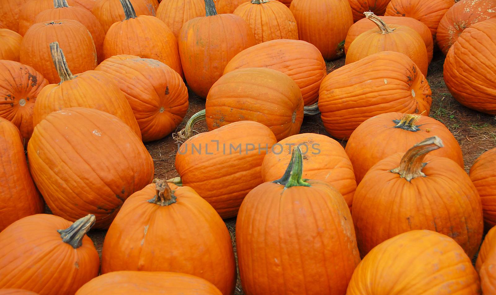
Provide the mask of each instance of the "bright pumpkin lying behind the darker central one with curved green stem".
[{"label": "bright pumpkin lying behind the darker central one with curved green stem", "polygon": [[272,40],[251,46],[227,64],[224,74],[243,68],[268,68],[290,76],[300,87],[303,102],[317,102],[318,88],[327,74],[320,51],[301,40]]}]

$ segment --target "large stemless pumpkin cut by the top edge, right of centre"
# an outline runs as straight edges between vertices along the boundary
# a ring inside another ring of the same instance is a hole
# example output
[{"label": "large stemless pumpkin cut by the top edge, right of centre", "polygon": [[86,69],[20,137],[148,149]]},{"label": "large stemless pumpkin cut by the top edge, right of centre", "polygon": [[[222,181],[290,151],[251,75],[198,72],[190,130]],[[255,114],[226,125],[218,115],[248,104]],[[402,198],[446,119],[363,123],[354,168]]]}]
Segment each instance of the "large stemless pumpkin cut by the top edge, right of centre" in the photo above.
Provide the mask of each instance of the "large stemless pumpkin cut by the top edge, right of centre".
[{"label": "large stemless pumpkin cut by the top edge, right of centre", "polygon": [[298,37],[320,50],[325,60],[343,55],[343,40],[353,24],[348,0],[293,0],[289,7],[298,24]]}]

